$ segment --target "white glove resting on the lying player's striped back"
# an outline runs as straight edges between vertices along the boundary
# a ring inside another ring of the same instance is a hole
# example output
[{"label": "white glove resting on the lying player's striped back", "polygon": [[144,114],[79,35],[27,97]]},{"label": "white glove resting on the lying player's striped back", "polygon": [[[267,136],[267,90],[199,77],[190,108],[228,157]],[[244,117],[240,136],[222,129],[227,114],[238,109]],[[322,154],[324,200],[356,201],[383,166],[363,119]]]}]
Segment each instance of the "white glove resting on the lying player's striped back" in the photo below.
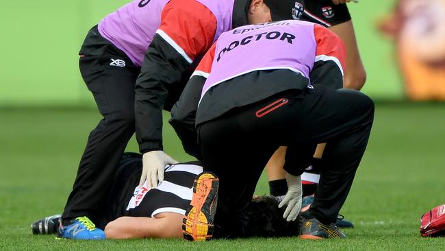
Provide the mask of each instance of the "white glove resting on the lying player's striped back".
[{"label": "white glove resting on the lying player's striped back", "polygon": [[139,187],[147,180],[147,188],[157,187],[157,183],[164,180],[166,165],[176,164],[176,160],[168,156],[164,151],[151,151],[142,155],[142,174]]}]

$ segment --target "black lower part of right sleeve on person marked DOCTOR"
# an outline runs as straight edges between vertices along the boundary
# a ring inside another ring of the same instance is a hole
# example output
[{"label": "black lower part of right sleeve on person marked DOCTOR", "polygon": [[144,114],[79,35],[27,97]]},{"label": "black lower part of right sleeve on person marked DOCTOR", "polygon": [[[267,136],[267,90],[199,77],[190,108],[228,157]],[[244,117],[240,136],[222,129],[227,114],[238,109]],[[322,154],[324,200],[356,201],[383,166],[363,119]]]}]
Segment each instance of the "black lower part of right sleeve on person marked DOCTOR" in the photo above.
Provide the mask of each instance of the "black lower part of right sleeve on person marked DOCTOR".
[{"label": "black lower part of right sleeve on person marked DOCTOR", "polygon": [[332,60],[315,62],[314,68],[309,73],[311,84],[322,84],[335,89],[343,88],[343,75]]}]

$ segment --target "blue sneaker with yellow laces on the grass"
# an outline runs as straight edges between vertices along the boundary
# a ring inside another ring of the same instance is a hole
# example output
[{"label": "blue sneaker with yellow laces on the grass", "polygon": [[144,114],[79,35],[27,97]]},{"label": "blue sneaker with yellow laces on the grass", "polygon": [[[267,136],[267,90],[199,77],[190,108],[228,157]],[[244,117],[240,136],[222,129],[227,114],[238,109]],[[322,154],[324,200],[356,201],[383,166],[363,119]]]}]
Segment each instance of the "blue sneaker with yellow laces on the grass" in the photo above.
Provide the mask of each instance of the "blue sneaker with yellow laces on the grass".
[{"label": "blue sneaker with yellow laces on the grass", "polygon": [[68,226],[62,223],[58,228],[58,238],[63,239],[105,239],[105,232],[96,228],[88,217],[77,217]]}]

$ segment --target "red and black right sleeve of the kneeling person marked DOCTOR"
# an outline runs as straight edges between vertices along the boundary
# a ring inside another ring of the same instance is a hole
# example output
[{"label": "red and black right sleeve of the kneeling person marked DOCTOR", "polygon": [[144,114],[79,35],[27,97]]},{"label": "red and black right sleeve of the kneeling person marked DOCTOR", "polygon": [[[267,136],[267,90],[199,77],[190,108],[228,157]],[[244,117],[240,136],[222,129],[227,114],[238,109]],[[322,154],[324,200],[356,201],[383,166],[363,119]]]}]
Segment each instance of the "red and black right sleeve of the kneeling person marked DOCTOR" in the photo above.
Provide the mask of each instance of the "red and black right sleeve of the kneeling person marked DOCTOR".
[{"label": "red and black right sleeve of the kneeling person marked DOCTOR", "polygon": [[342,88],[346,49],[342,40],[329,29],[314,25],[317,44],[314,68],[309,74],[312,84]]}]

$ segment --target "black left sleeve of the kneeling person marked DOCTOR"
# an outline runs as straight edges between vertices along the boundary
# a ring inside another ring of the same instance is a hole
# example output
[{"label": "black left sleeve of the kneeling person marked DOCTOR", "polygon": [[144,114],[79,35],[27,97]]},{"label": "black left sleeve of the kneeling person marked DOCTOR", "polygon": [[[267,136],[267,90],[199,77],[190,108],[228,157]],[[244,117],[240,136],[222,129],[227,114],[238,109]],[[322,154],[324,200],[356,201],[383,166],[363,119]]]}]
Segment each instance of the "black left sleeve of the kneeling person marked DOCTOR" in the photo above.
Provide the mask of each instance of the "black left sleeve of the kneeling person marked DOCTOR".
[{"label": "black left sleeve of the kneeling person marked DOCTOR", "polygon": [[198,134],[195,127],[196,109],[198,108],[201,91],[205,83],[205,77],[194,75],[184,88],[179,101],[171,110],[170,125],[181,139],[186,153],[201,159],[201,147],[198,143]]}]

